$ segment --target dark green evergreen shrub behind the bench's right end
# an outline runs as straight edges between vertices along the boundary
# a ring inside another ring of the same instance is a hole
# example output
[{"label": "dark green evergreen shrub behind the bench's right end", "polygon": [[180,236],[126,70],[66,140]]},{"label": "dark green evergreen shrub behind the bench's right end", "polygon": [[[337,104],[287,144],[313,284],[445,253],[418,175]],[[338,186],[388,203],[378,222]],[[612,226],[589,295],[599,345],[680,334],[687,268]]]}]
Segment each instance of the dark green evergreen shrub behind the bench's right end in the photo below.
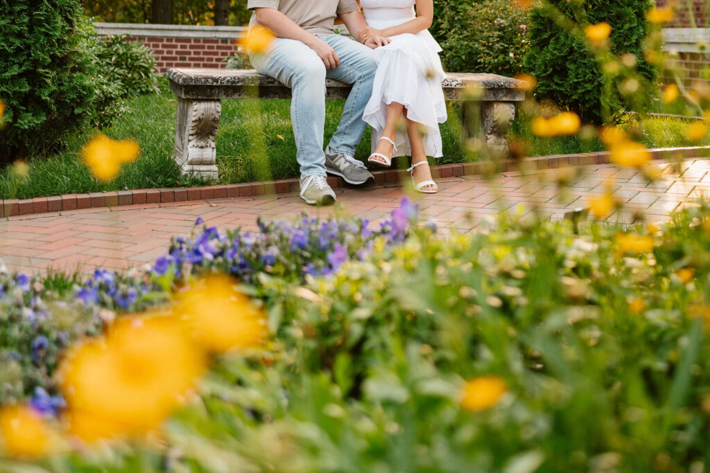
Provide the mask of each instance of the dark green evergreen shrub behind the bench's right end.
[{"label": "dark green evergreen shrub behind the bench's right end", "polygon": [[[535,98],[552,101],[578,113],[583,121],[596,124],[618,121],[628,110],[645,111],[650,105],[649,97],[657,94],[657,68],[644,59],[643,53],[643,40],[650,32],[645,12],[653,2],[549,3],[551,6],[546,4],[532,11],[530,49],[525,58],[525,72],[537,77]],[[595,55],[586,41],[579,40],[584,38],[584,32],[567,26],[552,8],[581,27],[610,24],[612,57],[603,52]],[[626,54],[633,55],[633,60],[626,60],[623,65],[618,57]],[[621,84],[626,79],[638,81],[638,88],[622,91]]]}]

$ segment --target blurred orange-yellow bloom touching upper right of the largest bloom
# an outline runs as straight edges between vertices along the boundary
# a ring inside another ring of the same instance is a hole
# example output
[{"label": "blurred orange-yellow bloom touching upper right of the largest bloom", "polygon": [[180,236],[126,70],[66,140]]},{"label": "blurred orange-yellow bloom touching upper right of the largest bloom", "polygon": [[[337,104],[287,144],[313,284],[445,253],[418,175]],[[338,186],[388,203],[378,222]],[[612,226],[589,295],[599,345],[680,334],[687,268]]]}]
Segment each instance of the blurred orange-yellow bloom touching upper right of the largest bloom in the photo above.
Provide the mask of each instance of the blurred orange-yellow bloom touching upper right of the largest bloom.
[{"label": "blurred orange-yellow bloom touching upper right of the largest bloom", "polygon": [[212,275],[178,294],[175,316],[207,350],[255,347],[266,339],[263,314],[234,284],[229,277]]}]

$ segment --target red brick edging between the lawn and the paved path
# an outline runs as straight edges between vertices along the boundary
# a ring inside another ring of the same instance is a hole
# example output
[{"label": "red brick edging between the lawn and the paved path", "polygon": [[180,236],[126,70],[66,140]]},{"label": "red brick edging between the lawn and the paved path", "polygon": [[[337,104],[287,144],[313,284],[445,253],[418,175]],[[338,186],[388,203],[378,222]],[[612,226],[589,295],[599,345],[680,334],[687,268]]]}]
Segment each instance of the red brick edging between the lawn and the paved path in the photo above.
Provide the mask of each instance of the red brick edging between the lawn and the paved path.
[{"label": "red brick edging between the lawn and the paved path", "polygon": [[[653,160],[687,159],[703,157],[703,151],[710,152],[710,146],[687,148],[658,148],[650,150]],[[587,166],[608,164],[608,151],[584,152],[574,155],[550,155],[528,157],[520,161],[498,162],[495,172],[518,170],[521,163],[532,169],[555,169],[567,166]],[[491,172],[490,161],[463,162],[432,167],[432,174],[438,179],[486,174]],[[386,169],[372,173],[376,184],[391,184],[409,179],[404,169]],[[348,187],[340,177],[328,177],[328,184],[334,188]],[[224,184],[207,187],[176,187],[162,189],[137,189],[133,191],[92,192],[91,194],[65,194],[63,196],[35,197],[34,199],[4,199],[0,201],[0,217],[25,216],[34,213],[72,211],[85,208],[102,208],[145,204],[172,204],[174,202],[204,201],[271,194],[288,194],[299,191],[298,179],[278,179],[268,182],[247,182],[244,184]]]}]

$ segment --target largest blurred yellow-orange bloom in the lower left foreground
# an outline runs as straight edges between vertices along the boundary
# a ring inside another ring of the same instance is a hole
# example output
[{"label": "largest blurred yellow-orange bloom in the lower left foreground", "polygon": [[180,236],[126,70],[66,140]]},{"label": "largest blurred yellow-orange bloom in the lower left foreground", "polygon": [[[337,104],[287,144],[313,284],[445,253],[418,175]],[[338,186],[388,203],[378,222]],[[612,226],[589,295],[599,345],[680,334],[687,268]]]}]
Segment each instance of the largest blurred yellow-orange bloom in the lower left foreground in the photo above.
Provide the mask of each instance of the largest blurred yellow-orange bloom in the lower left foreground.
[{"label": "largest blurred yellow-orange bloom in the lower left foreground", "polygon": [[182,404],[205,366],[173,318],[122,318],[60,365],[70,433],[88,442],[146,434]]}]

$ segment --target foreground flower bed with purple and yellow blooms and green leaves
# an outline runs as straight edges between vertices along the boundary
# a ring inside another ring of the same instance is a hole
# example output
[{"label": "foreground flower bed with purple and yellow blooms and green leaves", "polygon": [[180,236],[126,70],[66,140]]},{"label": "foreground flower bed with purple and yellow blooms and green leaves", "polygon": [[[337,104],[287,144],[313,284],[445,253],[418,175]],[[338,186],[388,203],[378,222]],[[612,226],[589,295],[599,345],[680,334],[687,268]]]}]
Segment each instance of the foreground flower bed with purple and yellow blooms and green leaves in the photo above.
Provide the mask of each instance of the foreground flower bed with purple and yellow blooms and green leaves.
[{"label": "foreground flower bed with purple and yellow blooms and green leaves", "polygon": [[[405,203],[373,233],[363,222],[306,218],[261,222],[253,234],[206,228],[176,238],[144,274],[97,272],[64,294],[5,276],[4,313],[15,315],[0,322],[1,346],[22,367],[4,368],[3,386],[13,371],[23,387],[4,401],[40,386],[47,394],[35,393],[33,405],[63,412],[48,396],[58,394],[52,374],[67,344],[102,331],[119,309],[184,306],[193,276],[226,273],[261,307],[268,341],[211,355],[196,394],[161,424],[160,441],[130,435],[109,444],[112,455],[77,455],[64,440],[52,465],[701,471],[710,455],[709,207],[629,230],[503,217],[447,240],[411,226],[414,214]],[[143,317],[135,333],[110,323],[107,346],[115,333],[137,336],[165,320]],[[155,357],[165,356],[160,347]],[[17,425],[32,422],[11,414]],[[59,430],[51,419],[37,431]],[[16,445],[13,430],[2,433]]]}]

